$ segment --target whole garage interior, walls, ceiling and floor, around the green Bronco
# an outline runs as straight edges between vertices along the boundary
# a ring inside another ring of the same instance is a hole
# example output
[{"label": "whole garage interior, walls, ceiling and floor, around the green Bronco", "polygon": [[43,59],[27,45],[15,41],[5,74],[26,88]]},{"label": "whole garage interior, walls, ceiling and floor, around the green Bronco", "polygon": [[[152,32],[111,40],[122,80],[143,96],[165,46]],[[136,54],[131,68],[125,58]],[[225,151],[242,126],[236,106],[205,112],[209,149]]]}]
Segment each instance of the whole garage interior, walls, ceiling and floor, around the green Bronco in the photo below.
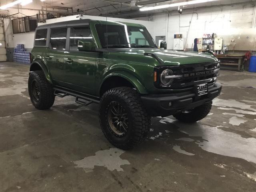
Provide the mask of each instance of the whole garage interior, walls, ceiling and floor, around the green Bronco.
[{"label": "whole garage interior, walls, ceiling and floor, around the green Bronco", "polygon": [[[256,191],[256,1],[188,2],[0,0],[0,192]],[[157,46],[211,51],[222,92],[210,113],[193,124],[152,117],[146,140],[121,150],[102,134],[98,104],[66,96],[34,108],[36,27],[79,19],[142,24]]]}]

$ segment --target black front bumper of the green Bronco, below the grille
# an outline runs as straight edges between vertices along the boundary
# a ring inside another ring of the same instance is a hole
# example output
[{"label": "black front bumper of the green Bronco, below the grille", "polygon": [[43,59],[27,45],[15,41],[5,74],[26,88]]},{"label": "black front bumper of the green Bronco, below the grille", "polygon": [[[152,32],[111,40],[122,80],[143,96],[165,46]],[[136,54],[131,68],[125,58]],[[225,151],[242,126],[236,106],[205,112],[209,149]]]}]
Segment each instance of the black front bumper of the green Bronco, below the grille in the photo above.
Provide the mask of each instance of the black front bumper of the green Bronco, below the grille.
[{"label": "black front bumper of the green Bronco, below the grille", "polygon": [[[203,96],[196,96],[193,92],[184,92],[142,95],[141,99],[151,116],[164,117],[195,108],[213,100],[220,95],[221,88],[220,83],[215,83],[208,87],[208,94]],[[170,102],[172,102],[172,106],[169,106]]]}]

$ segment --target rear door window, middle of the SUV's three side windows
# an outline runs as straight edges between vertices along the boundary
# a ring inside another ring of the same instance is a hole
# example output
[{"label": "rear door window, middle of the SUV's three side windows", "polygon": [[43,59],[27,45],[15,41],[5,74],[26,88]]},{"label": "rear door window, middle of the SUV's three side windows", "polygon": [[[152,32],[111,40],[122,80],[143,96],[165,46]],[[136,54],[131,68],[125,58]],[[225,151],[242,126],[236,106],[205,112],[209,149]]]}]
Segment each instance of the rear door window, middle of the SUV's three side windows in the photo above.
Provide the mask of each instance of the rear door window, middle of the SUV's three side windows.
[{"label": "rear door window, middle of the SUV's three side windows", "polygon": [[56,50],[65,50],[66,48],[67,28],[51,29],[50,48]]}]

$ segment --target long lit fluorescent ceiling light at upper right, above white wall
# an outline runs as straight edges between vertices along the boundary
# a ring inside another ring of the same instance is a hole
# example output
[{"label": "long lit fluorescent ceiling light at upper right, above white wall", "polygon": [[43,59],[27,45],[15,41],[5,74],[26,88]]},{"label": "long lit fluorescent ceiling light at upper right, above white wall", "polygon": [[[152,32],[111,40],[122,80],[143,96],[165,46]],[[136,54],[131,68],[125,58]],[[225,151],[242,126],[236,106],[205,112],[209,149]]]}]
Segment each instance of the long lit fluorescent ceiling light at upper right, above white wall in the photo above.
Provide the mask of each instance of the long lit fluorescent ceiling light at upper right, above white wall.
[{"label": "long lit fluorescent ceiling light at upper right, above white wall", "polygon": [[140,8],[140,11],[150,11],[150,10],[156,10],[156,9],[164,9],[169,7],[178,7],[178,6],[185,6],[185,5],[193,5],[198,3],[207,3],[212,1],[218,1],[218,0],[192,0],[192,1],[184,1],[179,3],[172,3],[172,4],[165,4],[165,5],[158,5],[154,7],[144,7]]}]

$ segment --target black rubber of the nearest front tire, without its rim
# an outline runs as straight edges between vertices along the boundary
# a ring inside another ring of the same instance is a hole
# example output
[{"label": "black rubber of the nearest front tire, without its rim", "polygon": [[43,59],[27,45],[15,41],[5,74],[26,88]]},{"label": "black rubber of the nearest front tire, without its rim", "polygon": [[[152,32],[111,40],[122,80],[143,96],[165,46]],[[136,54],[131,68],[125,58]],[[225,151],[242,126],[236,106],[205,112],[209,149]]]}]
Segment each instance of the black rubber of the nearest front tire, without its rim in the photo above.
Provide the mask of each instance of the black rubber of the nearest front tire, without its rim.
[{"label": "black rubber of the nearest front tire, without its rim", "polygon": [[[122,136],[116,135],[108,122],[108,107],[111,102],[119,102],[127,113],[128,130]],[[150,116],[138,92],[130,87],[112,88],[103,94],[100,100],[99,120],[108,141],[124,150],[134,148],[143,142],[150,130]]]}]

